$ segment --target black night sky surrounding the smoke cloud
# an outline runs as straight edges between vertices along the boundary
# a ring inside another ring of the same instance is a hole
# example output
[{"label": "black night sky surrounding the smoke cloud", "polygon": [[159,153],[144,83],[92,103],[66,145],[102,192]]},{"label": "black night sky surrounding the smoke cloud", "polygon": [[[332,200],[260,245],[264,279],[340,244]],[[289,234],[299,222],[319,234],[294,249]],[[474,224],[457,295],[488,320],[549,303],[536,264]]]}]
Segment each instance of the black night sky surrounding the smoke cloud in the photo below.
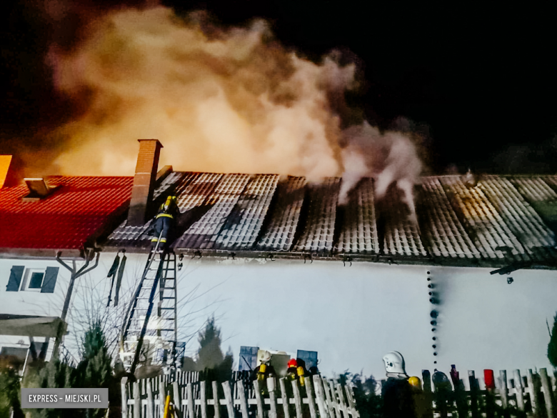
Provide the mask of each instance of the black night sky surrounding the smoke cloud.
[{"label": "black night sky surrounding the smoke cloud", "polygon": [[[59,1],[59,4],[63,3]],[[340,49],[365,83],[348,96],[372,124],[397,116],[428,126],[435,174],[456,166],[477,172],[557,172],[556,117],[541,81],[532,29],[544,11],[448,4],[360,1],[164,1],[178,14],[204,9],[224,25],[261,17],[282,44],[319,61]],[[129,3],[133,4],[133,3]],[[71,48],[79,27],[109,1],[80,2],[54,21],[44,4],[1,5],[0,154],[52,147],[41,131],[66,120],[71,104],[56,94],[44,55],[51,42]],[[546,11],[548,12],[548,11]],[[545,96],[545,97],[544,97]],[[453,168],[454,169],[454,168]]]}]

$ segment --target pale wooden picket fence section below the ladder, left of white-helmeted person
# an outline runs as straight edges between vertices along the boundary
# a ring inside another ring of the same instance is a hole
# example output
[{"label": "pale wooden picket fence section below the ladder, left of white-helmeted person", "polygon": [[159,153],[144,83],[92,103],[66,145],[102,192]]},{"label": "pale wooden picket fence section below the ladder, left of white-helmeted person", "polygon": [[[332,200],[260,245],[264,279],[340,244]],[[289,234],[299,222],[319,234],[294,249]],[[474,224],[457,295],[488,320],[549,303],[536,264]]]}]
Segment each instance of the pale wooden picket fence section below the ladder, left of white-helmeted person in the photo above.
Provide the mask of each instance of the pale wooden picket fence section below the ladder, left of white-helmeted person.
[{"label": "pale wooden picket fence section below the ladder, left of white-helmeted person", "polygon": [[[278,379],[279,391],[276,379],[269,377],[268,397],[261,395],[258,381],[246,387],[244,379],[238,376],[233,377],[232,387],[230,382],[224,382],[221,388],[217,382],[196,382],[199,377],[196,373],[178,373],[172,382],[169,376],[141,379],[132,384],[124,378],[122,418],[163,418],[167,395],[176,407],[176,418],[234,418],[235,411],[241,418],[249,418],[250,410],[257,418],[277,418],[279,414],[283,418],[359,418],[351,387],[319,375],[305,377],[303,389],[297,381]],[[291,385],[291,391],[287,385]],[[211,399],[208,399],[209,391]]]}]

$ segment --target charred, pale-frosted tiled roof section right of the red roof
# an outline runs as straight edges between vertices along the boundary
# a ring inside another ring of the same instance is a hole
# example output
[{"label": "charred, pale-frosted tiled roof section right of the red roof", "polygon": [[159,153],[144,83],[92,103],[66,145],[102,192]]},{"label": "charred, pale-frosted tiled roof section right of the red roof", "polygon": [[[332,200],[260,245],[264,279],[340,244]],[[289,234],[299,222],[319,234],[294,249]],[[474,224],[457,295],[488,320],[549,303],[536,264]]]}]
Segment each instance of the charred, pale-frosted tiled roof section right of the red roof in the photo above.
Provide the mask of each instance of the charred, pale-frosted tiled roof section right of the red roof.
[{"label": "charred, pale-frosted tiled roof section right of the red roof", "polygon": [[[476,186],[461,176],[423,177],[417,224],[396,186],[378,200],[373,179],[364,178],[341,206],[340,185],[338,178],[309,184],[273,174],[173,172],[154,205],[178,196],[183,222],[172,247],[194,256],[557,266],[557,176],[483,176]],[[146,251],[150,224],[124,221],[106,247]]]}]

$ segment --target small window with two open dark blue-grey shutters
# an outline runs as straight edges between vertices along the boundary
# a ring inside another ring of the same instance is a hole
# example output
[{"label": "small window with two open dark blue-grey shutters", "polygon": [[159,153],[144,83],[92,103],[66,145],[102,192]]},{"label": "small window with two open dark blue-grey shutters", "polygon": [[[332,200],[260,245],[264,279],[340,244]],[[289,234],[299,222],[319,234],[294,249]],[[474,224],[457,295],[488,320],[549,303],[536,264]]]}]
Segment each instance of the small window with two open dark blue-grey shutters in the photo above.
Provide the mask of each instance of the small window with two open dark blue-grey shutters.
[{"label": "small window with two open dark blue-grey shutters", "polygon": [[46,269],[29,269],[24,266],[11,267],[6,292],[41,292],[54,293],[59,267]]}]

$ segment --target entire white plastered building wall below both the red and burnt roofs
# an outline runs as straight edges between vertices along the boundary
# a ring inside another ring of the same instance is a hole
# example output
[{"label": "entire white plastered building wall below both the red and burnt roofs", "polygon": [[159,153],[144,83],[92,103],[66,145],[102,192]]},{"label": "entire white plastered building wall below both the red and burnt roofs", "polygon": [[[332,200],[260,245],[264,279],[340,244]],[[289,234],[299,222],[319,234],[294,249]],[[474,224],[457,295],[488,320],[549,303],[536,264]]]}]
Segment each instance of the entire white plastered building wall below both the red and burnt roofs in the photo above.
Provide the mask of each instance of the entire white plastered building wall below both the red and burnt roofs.
[{"label": "entire white plastered building wall below both the red and burnt roofs", "polygon": [[[115,330],[111,341],[117,337],[147,256],[126,254],[119,307],[113,307],[113,302],[107,308],[110,280],[106,274],[115,256],[101,254],[99,267],[76,282],[64,342],[71,352],[76,353],[93,317]],[[557,310],[557,272],[521,270],[510,274],[513,283],[507,284],[507,276],[478,268],[363,262],[344,267],[342,262],[191,257],[184,257],[183,263],[179,339],[189,339],[186,355],[194,355],[196,332],[215,314],[222,348],[226,352],[231,347],[236,367],[241,345],[291,353],[317,351],[324,374],[348,369],[378,379],[384,376],[381,357],[391,350],[400,351],[407,372],[418,376],[421,369],[448,373],[451,364],[476,373],[484,368],[524,372],[550,367],[546,319],[551,325]],[[16,292],[5,292],[11,265],[13,260],[0,260],[1,313],[61,311],[64,295],[58,292],[67,289],[69,272],[60,269],[54,294],[33,294],[22,300],[27,294],[11,297]],[[56,261],[44,264],[56,265]],[[441,303],[436,306],[428,300],[429,283],[438,292]],[[435,333],[431,332],[432,309],[439,312]]]}]

